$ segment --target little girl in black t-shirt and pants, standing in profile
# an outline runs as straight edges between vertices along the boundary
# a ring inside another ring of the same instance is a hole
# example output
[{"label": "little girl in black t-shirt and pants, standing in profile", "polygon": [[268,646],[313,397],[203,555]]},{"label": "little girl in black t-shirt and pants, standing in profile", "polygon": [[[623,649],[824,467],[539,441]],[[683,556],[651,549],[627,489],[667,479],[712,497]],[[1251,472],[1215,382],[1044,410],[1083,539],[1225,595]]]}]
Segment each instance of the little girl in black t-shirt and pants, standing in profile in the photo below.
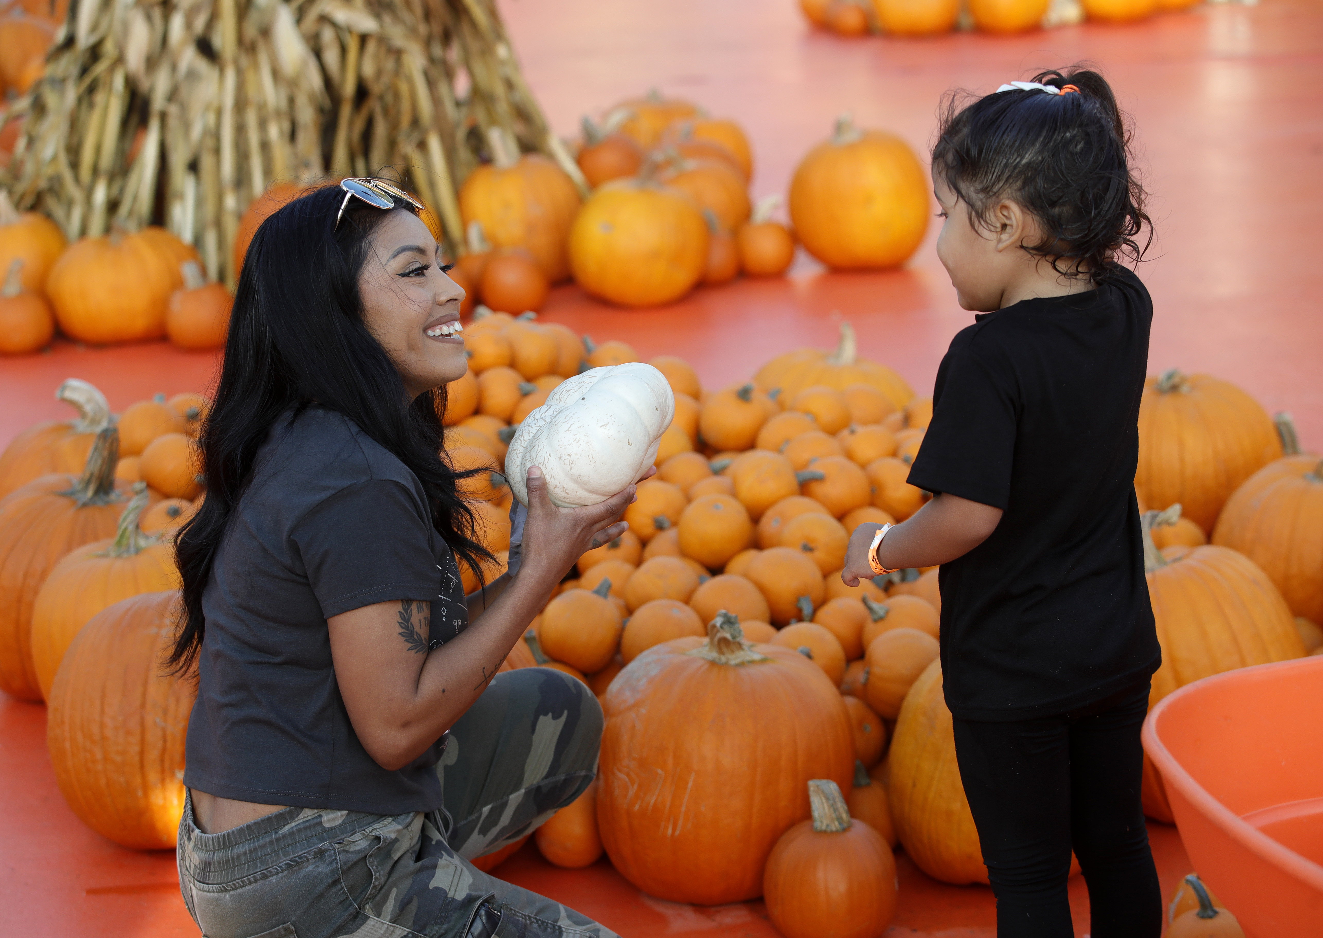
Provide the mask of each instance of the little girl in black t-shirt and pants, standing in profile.
[{"label": "little girl in black t-shirt and pants, standing in profile", "polygon": [[[937,254],[966,310],[937,373],[900,525],[851,537],[843,578],[941,564],[942,671],[1000,938],[1156,938],[1139,728],[1160,651],[1134,476],[1152,304],[1119,259],[1150,225],[1094,71],[963,108],[933,148]],[[1150,229],[1151,230],[1151,229]]]}]

